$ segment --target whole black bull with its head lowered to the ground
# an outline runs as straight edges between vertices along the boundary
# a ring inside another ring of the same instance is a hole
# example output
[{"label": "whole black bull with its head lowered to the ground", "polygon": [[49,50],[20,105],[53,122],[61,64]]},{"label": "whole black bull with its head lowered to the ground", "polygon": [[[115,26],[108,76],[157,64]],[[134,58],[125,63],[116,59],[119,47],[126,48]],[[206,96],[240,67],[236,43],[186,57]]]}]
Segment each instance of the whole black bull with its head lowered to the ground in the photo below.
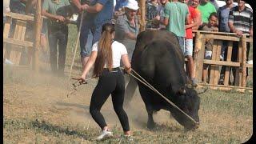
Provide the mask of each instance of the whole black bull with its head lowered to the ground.
[{"label": "whole black bull with its head lowered to the ground", "polygon": [[[199,122],[200,98],[193,88],[187,86],[184,62],[178,38],[174,34],[166,30],[150,30],[138,34],[131,62],[132,68],[161,94]],[[155,126],[153,112],[161,109],[169,110],[188,130],[198,126],[141,82],[138,82],[138,87],[148,113],[148,128]]]}]

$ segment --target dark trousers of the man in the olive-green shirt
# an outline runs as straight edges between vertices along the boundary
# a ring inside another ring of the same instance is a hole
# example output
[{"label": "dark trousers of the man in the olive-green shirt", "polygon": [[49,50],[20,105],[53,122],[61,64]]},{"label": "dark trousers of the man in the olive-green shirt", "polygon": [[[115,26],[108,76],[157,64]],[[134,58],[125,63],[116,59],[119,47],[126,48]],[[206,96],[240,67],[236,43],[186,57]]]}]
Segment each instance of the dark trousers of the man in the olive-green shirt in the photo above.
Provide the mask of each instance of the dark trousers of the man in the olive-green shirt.
[{"label": "dark trousers of the man in the olive-green shirt", "polygon": [[[68,38],[68,27],[63,26],[59,30],[49,30],[49,46],[50,46],[50,68],[55,73],[64,74],[66,61],[66,45]],[[57,67],[57,45],[58,45],[58,67]]]}]

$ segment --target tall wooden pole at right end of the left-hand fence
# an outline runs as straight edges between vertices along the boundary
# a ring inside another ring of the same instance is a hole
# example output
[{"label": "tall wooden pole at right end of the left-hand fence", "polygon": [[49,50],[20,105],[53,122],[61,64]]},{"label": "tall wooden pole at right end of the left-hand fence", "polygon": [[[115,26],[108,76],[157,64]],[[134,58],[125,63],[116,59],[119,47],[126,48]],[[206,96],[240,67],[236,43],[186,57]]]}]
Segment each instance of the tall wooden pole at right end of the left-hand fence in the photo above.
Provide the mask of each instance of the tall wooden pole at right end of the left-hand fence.
[{"label": "tall wooden pole at right end of the left-hand fence", "polygon": [[39,46],[40,46],[40,34],[41,34],[41,29],[42,29],[42,16],[41,16],[41,0],[37,1],[37,6],[36,6],[36,15],[35,15],[35,20],[34,20],[34,54],[33,54],[33,62],[32,62],[32,67],[33,70],[36,72],[39,71]]}]

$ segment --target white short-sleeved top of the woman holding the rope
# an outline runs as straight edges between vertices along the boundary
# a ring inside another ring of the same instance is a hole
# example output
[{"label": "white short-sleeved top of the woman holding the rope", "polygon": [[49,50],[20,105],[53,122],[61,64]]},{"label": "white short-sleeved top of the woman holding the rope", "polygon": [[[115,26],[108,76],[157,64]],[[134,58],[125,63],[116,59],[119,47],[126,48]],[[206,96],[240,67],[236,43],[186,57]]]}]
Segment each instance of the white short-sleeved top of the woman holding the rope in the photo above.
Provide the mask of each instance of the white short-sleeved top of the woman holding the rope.
[{"label": "white short-sleeved top of the woman holding the rope", "polygon": [[[112,48],[112,58],[113,58],[113,65],[112,68],[116,68],[120,66],[121,56],[123,54],[127,54],[126,46],[122,43],[114,41],[111,45]],[[95,42],[92,51],[98,51],[98,42]],[[104,66],[106,68],[106,64]]]}]

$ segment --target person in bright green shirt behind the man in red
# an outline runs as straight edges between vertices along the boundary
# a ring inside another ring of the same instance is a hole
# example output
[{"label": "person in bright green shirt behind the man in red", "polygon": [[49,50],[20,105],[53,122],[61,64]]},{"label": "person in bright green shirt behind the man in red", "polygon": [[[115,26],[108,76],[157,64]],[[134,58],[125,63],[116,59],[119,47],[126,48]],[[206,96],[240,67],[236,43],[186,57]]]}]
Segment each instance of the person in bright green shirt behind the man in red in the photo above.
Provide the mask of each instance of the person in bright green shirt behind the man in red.
[{"label": "person in bright green shirt behind the man in red", "polygon": [[201,12],[203,25],[207,25],[211,13],[217,12],[214,5],[211,4],[209,0],[200,0],[198,10]]}]

